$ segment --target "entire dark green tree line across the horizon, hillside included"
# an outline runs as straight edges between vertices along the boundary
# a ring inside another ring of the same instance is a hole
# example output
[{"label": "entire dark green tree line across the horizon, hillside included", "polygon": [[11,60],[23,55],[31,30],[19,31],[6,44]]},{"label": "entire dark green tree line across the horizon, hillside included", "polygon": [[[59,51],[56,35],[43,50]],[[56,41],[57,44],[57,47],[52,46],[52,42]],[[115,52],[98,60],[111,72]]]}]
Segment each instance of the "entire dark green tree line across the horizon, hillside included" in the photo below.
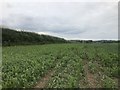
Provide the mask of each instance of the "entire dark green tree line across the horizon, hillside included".
[{"label": "entire dark green tree line across the horizon, hillside included", "polygon": [[[2,39],[0,38],[0,45],[30,45],[30,44],[50,44],[50,43],[118,43],[114,40],[65,40],[50,35],[40,35],[34,32],[16,31],[8,28],[0,28],[2,31]],[[1,35],[1,34],[0,34]],[[1,36],[0,36],[1,37]]]}]

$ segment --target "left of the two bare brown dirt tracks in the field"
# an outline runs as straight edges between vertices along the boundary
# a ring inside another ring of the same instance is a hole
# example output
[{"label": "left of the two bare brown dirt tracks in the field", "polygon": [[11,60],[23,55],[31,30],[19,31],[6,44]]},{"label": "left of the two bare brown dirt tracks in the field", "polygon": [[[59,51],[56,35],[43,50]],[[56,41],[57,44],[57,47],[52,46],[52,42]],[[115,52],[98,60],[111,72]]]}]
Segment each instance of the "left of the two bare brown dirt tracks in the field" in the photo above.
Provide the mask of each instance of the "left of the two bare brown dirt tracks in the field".
[{"label": "left of the two bare brown dirt tracks in the field", "polygon": [[48,71],[48,73],[37,83],[34,88],[44,88],[52,75],[53,71]]}]

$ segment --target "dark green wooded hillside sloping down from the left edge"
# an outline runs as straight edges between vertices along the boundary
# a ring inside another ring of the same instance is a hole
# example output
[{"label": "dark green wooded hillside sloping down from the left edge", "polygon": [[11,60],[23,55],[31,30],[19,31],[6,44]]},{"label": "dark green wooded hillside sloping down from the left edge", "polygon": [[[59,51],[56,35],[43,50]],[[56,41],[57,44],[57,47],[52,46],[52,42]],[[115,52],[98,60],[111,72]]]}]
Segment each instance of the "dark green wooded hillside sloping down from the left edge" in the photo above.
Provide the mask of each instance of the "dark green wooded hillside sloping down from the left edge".
[{"label": "dark green wooded hillside sloping down from the left edge", "polygon": [[27,45],[27,44],[48,44],[65,43],[63,38],[49,35],[39,35],[34,32],[15,31],[8,28],[2,28],[2,45]]}]

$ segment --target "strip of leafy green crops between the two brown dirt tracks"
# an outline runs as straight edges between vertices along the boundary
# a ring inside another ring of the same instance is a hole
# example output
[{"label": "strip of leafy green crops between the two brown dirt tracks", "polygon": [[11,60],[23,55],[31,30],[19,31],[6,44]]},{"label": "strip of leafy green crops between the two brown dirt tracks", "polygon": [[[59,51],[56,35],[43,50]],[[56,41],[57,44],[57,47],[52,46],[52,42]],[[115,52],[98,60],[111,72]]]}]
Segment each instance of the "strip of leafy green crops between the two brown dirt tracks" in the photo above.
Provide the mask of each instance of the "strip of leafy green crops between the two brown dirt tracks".
[{"label": "strip of leafy green crops between the two brown dirt tracks", "polygon": [[55,67],[53,77],[47,87],[49,88],[72,88],[78,87],[79,80],[83,75],[82,59],[74,53],[64,56]]}]

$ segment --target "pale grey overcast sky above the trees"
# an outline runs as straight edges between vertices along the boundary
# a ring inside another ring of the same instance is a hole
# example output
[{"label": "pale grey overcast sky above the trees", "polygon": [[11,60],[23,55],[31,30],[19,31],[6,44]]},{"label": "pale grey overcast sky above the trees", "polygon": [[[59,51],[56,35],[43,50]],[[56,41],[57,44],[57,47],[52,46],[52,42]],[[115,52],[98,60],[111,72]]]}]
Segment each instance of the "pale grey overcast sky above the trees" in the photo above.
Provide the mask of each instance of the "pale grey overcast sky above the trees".
[{"label": "pale grey overcast sky above the trees", "polygon": [[0,25],[65,39],[118,39],[117,2],[5,1]]}]

